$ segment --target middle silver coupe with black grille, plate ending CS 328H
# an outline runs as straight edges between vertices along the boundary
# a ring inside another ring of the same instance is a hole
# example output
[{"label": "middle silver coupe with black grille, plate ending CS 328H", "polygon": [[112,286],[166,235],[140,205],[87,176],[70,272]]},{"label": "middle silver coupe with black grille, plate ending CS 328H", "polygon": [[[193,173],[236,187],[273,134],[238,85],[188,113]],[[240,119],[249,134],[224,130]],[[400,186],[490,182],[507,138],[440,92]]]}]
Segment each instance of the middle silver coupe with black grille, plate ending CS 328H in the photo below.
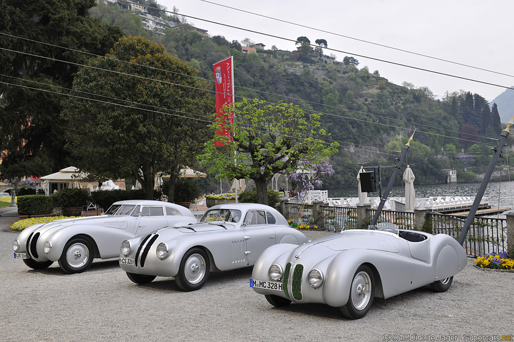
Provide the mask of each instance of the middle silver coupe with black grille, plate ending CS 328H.
[{"label": "middle silver coupe with black grille, plate ending CS 328H", "polygon": [[174,277],[179,288],[201,288],[210,271],[252,266],[267,247],[307,242],[277,210],[240,203],[211,207],[195,225],[157,230],[121,244],[120,266],[137,284]]}]

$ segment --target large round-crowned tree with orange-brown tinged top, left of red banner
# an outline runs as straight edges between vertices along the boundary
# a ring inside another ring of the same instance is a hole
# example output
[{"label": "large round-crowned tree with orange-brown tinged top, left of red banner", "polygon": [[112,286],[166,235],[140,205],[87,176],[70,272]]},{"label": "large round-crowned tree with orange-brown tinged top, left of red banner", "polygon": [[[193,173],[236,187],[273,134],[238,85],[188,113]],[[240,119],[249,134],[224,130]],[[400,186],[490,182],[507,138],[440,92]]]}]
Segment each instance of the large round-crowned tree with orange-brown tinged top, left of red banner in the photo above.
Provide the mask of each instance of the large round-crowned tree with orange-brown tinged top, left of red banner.
[{"label": "large round-crowned tree with orange-brown tinged top, left of red banner", "polygon": [[172,202],[180,168],[193,165],[208,136],[208,115],[214,111],[213,97],[205,91],[208,85],[195,78],[195,69],[142,37],[121,38],[107,57],[91,59],[89,64],[124,74],[83,68],[73,88],[119,99],[106,101],[122,106],[65,100],[63,117],[75,164],[100,179],[135,177],[148,199],[155,174],[170,173]]}]

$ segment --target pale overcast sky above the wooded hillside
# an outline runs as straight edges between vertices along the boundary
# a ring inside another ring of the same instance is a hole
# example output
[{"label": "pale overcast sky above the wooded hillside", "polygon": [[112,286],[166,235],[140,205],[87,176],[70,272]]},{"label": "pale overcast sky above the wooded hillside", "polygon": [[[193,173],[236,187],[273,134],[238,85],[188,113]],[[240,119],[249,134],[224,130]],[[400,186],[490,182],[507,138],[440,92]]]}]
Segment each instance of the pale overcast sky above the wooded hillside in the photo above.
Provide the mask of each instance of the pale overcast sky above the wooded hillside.
[{"label": "pale overcast sky above the wooded hillside", "polygon": [[[514,85],[514,61],[512,61],[514,44],[510,38],[512,34],[509,34],[511,32],[509,24],[514,13],[512,0],[209,1],[507,75],[363,43],[200,0],[157,0],[157,3],[167,7],[168,10],[176,7],[179,13],[185,15],[288,39],[296,40],[299,36],[306,36],[313,44],[316,39],[325,39],[328,48],[346,52],[324,50],[327,55],[335,54],[338,61],[342,61],[346,55],[354,56],[360,63],[359,68],[367,66],[370,72],[378,70],[380,76],[397,85],[405,81],[412,83],[415,87],[428,87],[437,98],[442,98],[447,91],[465,90],[492,100],[504,92],[505,88],[379,62],[359,57],[357,54],[504,87]],[[187,18],[187,21],[198,28],[208,30],[211,36],[223,35],[229,41],[236,39],[241,42],[248,37],[255,43],[266,45],[266,49],[271,48],[272,45],[282,50],[296,49],[293,42],[280,38],[228,28],[198,19]]]}]

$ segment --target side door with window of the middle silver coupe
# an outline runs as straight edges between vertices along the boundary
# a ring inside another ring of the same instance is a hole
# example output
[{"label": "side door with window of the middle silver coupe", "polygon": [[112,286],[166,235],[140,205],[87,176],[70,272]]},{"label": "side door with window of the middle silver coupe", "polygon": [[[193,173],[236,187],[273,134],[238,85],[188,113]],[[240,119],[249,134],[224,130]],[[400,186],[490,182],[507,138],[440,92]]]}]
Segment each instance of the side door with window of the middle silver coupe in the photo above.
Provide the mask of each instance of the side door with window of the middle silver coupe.
[{"label": "side door with window of the middle silver coupe", "polygon": [[246,259],[254,263],[266,248],[276,244],[275,231],[267,224],[264,210],[247,211],[243,223]]}]

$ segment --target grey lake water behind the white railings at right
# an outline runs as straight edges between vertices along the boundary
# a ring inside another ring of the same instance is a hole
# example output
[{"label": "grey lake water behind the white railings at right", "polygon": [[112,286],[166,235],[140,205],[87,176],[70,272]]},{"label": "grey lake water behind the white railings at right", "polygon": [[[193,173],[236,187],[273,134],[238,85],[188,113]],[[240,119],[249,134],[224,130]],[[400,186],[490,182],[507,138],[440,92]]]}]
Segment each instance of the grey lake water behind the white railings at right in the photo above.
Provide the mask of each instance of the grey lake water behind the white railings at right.
[{"label": "grey lake water behind the white railings at right", "polygon": [[[386,189],[387,184],[382,186]],[[480,183],[452,183],[437,185],[416,185],[414,192],[416,197],[437,197],[437,196],[476,196]],[[379,193],[370,192],[369,197],[378,197]],[[405,196],[405,187],[395,186],[391,189],[389,197]],[[328,189],[328,197],[358,197],[357,185],[353,188]],[[489,182],[484,197],[488,197],[490,205],[514,208],[514,182]]]}]

